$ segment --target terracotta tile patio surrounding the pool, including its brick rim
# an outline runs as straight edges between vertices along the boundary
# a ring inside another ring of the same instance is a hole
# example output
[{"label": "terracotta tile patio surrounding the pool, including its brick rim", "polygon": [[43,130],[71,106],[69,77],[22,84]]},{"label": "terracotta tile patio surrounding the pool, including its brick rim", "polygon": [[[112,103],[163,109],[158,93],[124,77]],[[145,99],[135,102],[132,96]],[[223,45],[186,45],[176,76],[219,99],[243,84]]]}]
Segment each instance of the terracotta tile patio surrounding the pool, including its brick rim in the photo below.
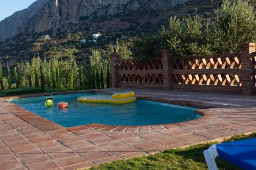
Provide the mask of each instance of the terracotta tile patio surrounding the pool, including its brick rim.
[{"label": "terracotta tile patio surrounding the pool, including its brick rim", "polygon": [[[126,89],[95,91],[113,93]],[[117,127],[91,124],[64,128],[2,98],[1,169],[84,168],[161,152],[168,148],[186,147],[235,134],[256,132],[255,96],[134,91],[141,99],[204,108],[197,110],[197,113],[204,116],[189,122],[165,125]],[[22,97],[42,95],[49,94]],[[20,96],[14,98],[18,97]]]}]

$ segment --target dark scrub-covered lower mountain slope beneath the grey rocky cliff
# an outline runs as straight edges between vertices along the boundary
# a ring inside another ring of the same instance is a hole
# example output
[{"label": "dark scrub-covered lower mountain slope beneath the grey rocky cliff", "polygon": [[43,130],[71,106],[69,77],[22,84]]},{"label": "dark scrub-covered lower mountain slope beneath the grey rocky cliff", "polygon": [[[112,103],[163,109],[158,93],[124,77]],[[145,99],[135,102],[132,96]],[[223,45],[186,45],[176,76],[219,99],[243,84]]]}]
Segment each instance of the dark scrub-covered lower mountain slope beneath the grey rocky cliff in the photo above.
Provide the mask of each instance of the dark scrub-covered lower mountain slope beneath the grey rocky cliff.
[{"label": "dark scrub-covered lower mountain slope beneath the grey rocky cliff", "polygon": [[[86,17],[79,17],[77,21],[71,21],[57,30],[49,30],[43,33],[29,33],[18,35],[6,42],[0,42],[0,59],[5,65],[14,65],[20,60],[31,60],[33,56],[39,55],[42,58],[62,57],[66,48],[76,48],[77,59],[87,61],[90,49],[104,48],[110,41],[117,38],[121,41],[134,36],[141,36],[141,33],[155,34],[161,25],[168,25],[170,16],[183,17],[200,16],[203,27],[207,22],[212,22],[216,16],[217,9],[221,6],[220,0],[196,0],[188,1],[183,5],[177,5],[172,9],[151,9],[124,10],[114,15],[101,15],[96,13]],[[92,34],[100,32],[103,34],[97,42],[92,41]],[[43,35],[50,35],[46,39]],[[80,43],[80,39],[86,39],[86,43]]]}]

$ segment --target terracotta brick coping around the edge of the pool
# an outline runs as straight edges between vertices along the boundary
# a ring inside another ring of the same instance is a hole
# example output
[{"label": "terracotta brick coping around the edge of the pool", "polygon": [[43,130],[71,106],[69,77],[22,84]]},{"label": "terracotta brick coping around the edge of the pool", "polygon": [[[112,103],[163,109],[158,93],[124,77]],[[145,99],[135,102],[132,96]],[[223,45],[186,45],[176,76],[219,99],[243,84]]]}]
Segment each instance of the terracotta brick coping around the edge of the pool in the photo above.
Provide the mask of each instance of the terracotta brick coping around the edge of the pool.
[{"label": "terracotta brick coping around the edge of the pool", "polygon": [[[39,96],[48,96],[48,95],[59,95],[59,94],[75,94],[75,93],[84,93],[84,92],[99,92],[99,93],[106,93],[106,94],[113,94],[113,92],[107,92],[103,91],[101,89],[94,89],[94,90],[76,90],[76,91],[64,91],[64,92],[52,92],[52,93],[39,93],[39,94],[26,94],[26,95],[15,95],[15,96],[4,96],[0,99],[5,100],[6,102],[9,102],[7,100],[10,99],[19,99],[19,98],[33,98],[33,97],[39,97]],[[127,132],[135,132],[135,131],[151,131],[151,130],[165,130],[165,129],[173,129],[173,128],[179,128],[179,127],[186,127],[197,124],[197,122],[200,120],[204,121],[205,118],[210,118],[210,115],[207,115],[205,113],[205,110],[214,107],[208,107],[203,105],[195,104],[191,101],[181,101],[181,100],[168,100],[168,99],[159,99],[159,98],[152,98],[145,95],[136,95],[138,99],[148,100],[148,101],[155,101],[155,102],[162,102],[162,103],[168,103],[168,104],[174,104],[174,105],[181,105],[181,106],[187,106],[187,107],[194,107],[194,108],[202,108],[199,110],[195,110],[194,112],[196,114],[202,115],[200,118],[185,121],[185,122],[179,122],[179,123],[170,123],[170,124],[158,124],[158,125],[145,125],[145,126],[113,126],[113,125],[104,125],[104,124],[87,124],[87,125],[78,125],[74,127],[63,127],[57,123],[52,122],[51,120],[48,120],[44,117],[41,117],[33,112],[30,112],[22,107],[19,107],[11,102],[9,104],[12,105],[12,107],[16,108],[16,111],[11,111],[14,115],[18,116],[19,118],[23,119],[25,122],[28,122],[30,124],[35,124],[36,128],[43,130],[43,131],[50,131],[50,130],[56,130],[59,128],[65,128],[71,132],[73,131],[79,131],[82,129],[91,129],[91,130],[97,130],[97,131],[114,131],[114,132],[121,132],[121,131],[127,131]],[[3,106],[5,107],[5,106]],[[22,113],[22,114],[21,114]],[[28,116],[30,115],[30,116]],[[207,115],[207,117],[205,117]],[[31,117],[38,117],[36,120],[33,120],[31,122]],[[42,126],[44,125],[44,126]],[[46,128],[47,127],[47,128]],[[51,128],[50,128],[51,127]]]}]

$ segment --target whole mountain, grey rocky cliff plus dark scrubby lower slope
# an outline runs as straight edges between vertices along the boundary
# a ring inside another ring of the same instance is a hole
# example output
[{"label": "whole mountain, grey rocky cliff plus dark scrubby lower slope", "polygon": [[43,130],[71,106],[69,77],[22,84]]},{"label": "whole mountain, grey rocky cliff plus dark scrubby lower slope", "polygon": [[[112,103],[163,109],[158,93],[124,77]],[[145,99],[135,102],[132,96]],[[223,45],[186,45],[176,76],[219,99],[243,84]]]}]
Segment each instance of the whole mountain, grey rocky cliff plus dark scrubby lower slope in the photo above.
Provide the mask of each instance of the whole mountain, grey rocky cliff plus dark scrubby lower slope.
[{"label": "whole mountain, grey rocky cliff plus dark scrubby lower slope", "polygon": [[[168,25],[170,16],[198,15],[205,26],[221,3],[222,0],[38,0],[0,22],[0,61],[15,65],[37,55],[63,57],[66,48],[76,48],[77,58],[86,61],[91,48],[105,48],[116,39],[127,42],[141,33],[158,33],[162,25]],[[92,38],[95,33],[102,34],[96,42]]]}]

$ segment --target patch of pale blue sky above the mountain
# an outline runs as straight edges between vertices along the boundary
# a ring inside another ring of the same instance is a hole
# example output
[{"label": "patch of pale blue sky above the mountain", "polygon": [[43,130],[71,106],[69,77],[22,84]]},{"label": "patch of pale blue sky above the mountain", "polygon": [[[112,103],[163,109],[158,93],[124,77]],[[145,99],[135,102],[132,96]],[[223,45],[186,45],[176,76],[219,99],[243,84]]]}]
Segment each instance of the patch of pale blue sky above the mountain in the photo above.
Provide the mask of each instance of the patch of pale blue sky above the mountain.
[{"label": "patch of pale blue sky above the mountain", "polygon": [[0,21],[16,11],[28,8],[36,0],[0,0]]}]

